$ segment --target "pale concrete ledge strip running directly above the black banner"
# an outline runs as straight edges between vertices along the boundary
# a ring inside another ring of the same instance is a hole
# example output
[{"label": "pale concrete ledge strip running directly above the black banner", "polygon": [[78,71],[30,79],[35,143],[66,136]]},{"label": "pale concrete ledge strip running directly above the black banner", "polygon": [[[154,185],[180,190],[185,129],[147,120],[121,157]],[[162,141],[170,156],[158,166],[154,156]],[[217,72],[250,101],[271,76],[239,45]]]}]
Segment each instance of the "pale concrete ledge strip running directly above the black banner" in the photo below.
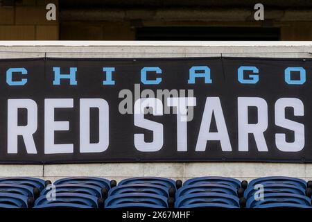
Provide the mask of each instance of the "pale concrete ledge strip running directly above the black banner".
[{"label": "pale concrete ledge strip running directly above the black banner", "polygon": [[[200,43],[199,43],[200,44]],[[259,43],[260,44],[260,43]],[[257,44],[256,44],[257,45]],[[312,42],[293,46],[1,46],[0,58],[312,58]]]}]

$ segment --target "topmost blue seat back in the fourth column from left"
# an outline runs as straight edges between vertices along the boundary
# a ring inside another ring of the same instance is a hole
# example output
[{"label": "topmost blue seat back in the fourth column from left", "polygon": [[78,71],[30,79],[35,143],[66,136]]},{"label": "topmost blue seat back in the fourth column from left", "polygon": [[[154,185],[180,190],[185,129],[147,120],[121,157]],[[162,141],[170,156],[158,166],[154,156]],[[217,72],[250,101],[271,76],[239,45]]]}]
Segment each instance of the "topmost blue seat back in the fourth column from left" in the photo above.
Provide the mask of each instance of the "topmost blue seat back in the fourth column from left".
[{"label": "topmost blue seat back in the fourth column from left", "polygon": [[217,177],[217,176],[206,176],[206,177],[200,177],[200,178],[192,178],[192,179],[185,181],[183,186],[199,185],[199,184],[207,184],[207,183],[228,185],[228,186],[236,187],[236,188],[241,187],[241,181],[239,181],[237,179]]}]

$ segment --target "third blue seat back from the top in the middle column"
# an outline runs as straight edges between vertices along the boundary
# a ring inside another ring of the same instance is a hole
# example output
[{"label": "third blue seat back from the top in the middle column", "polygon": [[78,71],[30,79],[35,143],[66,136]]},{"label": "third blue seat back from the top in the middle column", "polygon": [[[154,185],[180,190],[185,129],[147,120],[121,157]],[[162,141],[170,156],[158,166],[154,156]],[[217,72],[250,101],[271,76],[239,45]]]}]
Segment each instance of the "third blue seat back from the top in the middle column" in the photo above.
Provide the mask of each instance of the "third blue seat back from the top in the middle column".
[{"label": "third blue seat back from the top in the middle column", "polygon": [[168,207],[167,201],[168,198],[155,194],[144,194],[144,193],[116,194],[113,196],[109,196],[105,200],[105,207],[125,203],[147,203],[159,205],[162,207]]}]

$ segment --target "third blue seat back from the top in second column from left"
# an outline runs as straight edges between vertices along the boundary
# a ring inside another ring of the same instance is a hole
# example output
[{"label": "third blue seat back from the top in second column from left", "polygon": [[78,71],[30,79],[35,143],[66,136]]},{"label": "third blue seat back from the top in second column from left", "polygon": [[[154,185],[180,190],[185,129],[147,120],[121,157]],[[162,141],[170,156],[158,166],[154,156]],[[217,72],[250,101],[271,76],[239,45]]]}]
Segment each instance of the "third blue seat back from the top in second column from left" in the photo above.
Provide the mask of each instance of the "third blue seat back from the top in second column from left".
[{"label": "third blue seat back from the top in second column from left", "polygon": [[35,200],[35,206],[52,204],[52,203],[77,203],[80,205],[87,205],[89,207],[101,207],[98,204],[98,198],[87,194],[73,194],[73,193],[56,193],[55,200],[48,200],[47,196],[40,196]]}]

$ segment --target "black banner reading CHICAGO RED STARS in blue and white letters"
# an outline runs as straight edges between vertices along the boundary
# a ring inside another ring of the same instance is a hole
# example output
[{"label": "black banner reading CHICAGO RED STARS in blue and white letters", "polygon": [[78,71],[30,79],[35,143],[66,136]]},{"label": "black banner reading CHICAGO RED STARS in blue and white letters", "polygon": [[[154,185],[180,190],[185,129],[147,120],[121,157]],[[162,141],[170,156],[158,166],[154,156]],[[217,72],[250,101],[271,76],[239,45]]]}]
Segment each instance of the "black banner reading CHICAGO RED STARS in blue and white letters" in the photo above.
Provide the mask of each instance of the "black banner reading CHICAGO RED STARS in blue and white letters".
[{"label": "black banner reading CHICAGO RED STARS in blue and white letters", "polygon": [[312,60],[0,60],[0,163],[312,162]]}]

